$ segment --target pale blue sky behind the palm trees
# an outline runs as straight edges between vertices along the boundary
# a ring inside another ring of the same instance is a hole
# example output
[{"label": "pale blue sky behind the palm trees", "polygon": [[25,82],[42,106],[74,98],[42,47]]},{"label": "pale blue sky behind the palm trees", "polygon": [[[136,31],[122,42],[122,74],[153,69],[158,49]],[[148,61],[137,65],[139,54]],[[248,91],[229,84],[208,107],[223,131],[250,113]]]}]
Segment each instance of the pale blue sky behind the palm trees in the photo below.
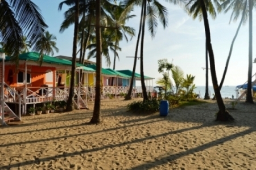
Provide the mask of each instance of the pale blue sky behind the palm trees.
[{"label": "pale blue sky behind the palm trees", "polygon": [[[57,48],[59,53],[54,56],[72,56],[73,44],[73,25],[66,29],[63,33],[59,32],[60,25],[64,20],[64,12],[68,9],[64,6],[61,11],[58,10],[60,0],[32,0],[39,6],[44,19],[48,25],[48,31],[57,37]],[[161,1],[160,1],[161,2]],[[181,67],[184,74],[195,75],[194,83],[196,86],[205,86],[205,32],[203,20],[192,19],[183,8],[172,5],[167,2],[161,2],[162,5],[168,8],[168,27],[163,29],[160,22],[154,39],[151,38],[150,32],[146,25],[144,37],[144,75],[150,76],[155,80],[162,78],[158,73],[158,60],[166,58],[168,62]],[[136,30],[136,36],[129,42],[122,41],[119,53],[119,61],[116,63],[115,70],[132,70],[133,58],[126,58],[127,56],[135,55],[135,45],[137,42],[138,28],[139,28],[139,14],[140,8],[135,8],[131,13],[137,15],[135,18],[127,22],[127,26],[133,27]],[[209,25],[212,39],[212,46],[215,58],[216,73],[218,83],[220,83],[222,74],[226,65],[229,49],[233,37],[236,33],[240,19],[237,22],[230,22],[231,13],[218,14],[216,19],[210,16]],[[255,28],[256,19],[254,11],[253,28]],[[248,65],[249,65],[249,27],[248,23],[242,25],[238,37],[235,41],[232,56],[230,58],[228,72],[226,74],[224,86],[237,86],[243,84],[247,80]],[[255,36],[253,36],[253,40]],[[255,49],[255,43],[253,44]],[[140,53],[138,53],[139,56]],[[113,58],[112,65],[113,67]],[[79,57],[79,55],[77,55]],[[253,60],[256,58],[253,53]],[[95,59],[90,59],[95,61]],[[137,62],[136,72],[140,72],[139,61]],[[255,64],[253,63],[253,75],[256,73]],[[102,67],[106,68],[105,58],[102,57]],[[254,78],[253,78],[254,80]],[[209,71],[209,86],[212,86],[212,79]]]}]

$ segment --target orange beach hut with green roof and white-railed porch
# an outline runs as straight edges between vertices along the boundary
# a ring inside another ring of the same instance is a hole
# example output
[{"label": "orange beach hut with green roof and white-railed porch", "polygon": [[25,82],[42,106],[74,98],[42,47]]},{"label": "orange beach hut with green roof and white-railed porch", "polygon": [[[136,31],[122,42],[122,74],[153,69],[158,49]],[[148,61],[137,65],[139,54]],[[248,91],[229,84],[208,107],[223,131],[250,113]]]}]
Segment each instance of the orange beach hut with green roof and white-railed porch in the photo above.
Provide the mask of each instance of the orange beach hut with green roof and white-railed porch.
[{"label": "orange beach hut with green roof and white-railed porch", "polygon": [[[69,88],[64,87],[65,74],[56,78],[56,71],[71,70],[71,61],[54,58],[44,55],[42,65],[38,62],[39,53],[29,52],[19,55],[18,67],[13,65],[10,57],[6,57],[4,71],[2,73],[5,82],[5,102],[9,104],[19,104],[22,114],[26,114],[27,105],[38,103],[48,103],[53,100],[67,100]],[[90,70],[83,65],[77,64],[80,70]],[[82,69],[81,69],[82,68]],[[57,80],[57,84],[55,83]],[[77,88],[75,95],[77,108],[83,103],[80,100],[81,88]]]}]

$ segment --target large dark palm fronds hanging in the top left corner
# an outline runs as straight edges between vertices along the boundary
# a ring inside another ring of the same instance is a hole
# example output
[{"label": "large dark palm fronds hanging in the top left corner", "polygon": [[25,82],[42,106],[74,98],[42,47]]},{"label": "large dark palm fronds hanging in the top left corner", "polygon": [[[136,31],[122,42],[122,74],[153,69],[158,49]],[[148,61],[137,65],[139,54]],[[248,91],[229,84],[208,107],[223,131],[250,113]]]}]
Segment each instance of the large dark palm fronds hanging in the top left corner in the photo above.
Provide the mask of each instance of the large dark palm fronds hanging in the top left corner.
[{"label": "large dark palm fronds hanging in the top left corner", "polygon": [[[18,63],[20,51],[23,49],[23,36],[31,42],[32,50],[41,39],[47,28],[39,7],[31,0],[0,1],[0,36],[5,44],[5,52]],[[26,35],[23,35],[26,33]]]}]

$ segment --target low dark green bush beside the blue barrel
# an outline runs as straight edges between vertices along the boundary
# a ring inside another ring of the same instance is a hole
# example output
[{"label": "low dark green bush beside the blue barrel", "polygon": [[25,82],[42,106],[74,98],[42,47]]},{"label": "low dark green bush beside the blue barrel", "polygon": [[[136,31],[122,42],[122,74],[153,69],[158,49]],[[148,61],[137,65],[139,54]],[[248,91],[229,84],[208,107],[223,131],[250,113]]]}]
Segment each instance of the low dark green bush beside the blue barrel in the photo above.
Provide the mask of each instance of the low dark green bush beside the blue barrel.
[{"label": "low dark green bush beside the blue barrel", "polygon": [[159,111],[160,101],[158,99],[150,99],[146,101],[134,101],[127,105],[128,111],[155,113]]}]

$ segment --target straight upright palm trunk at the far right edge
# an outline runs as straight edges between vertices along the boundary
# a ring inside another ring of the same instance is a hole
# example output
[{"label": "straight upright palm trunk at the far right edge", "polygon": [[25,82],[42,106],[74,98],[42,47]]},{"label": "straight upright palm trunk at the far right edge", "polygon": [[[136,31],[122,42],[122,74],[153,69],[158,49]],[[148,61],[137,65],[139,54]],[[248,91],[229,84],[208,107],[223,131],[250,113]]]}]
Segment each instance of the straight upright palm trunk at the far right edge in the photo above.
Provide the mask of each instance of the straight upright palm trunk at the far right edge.
[{"label": "straight upright palm trunk at the far right edge", "polygon": [[251,94],[251,73],[253,71],[253,0],[249,0],[249,67],[248,67],[248,85],[246,102],[253,103],[253,95]]}]

